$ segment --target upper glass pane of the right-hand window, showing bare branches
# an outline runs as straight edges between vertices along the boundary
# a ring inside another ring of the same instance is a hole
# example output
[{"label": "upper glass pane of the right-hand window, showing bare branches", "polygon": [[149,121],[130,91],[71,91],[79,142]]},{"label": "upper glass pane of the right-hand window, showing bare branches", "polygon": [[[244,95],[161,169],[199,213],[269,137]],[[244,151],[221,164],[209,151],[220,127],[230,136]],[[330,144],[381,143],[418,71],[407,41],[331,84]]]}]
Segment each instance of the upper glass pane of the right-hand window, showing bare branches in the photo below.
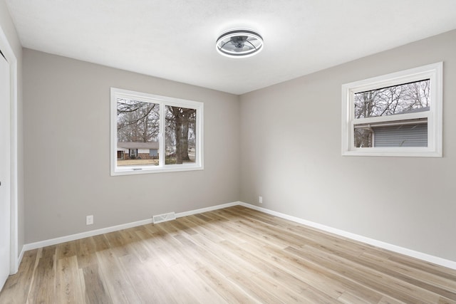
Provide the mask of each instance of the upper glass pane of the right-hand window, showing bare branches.
[{"label": "upper glass pane of the right-hand window, showing bare branches", "polygon": [[355,119],[428,111],[430,80],[356,93],[354,103]]}]

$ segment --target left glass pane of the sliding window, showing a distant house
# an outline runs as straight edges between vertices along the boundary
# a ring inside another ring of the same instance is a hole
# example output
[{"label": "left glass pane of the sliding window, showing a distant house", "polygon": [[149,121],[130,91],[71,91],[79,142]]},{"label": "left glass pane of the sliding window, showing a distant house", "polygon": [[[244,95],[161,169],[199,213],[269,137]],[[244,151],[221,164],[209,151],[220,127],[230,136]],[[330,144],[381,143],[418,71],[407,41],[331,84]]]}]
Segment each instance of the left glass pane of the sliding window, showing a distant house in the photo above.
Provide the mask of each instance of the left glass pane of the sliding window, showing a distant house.
[{"label": "left glass pane of the sliding window, showing a distant house", "polygon": [[117,165],[157,166],[160,105],[117,98]]}]

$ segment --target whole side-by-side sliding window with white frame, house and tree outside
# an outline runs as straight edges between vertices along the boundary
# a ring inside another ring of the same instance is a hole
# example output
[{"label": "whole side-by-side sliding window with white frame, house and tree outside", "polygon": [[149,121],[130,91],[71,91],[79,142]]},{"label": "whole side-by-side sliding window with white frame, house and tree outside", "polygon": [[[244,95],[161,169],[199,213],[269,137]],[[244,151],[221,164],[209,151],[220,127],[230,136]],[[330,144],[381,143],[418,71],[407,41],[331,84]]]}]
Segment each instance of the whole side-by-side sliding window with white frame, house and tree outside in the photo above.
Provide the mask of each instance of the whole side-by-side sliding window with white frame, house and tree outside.
[{"label": "whole side-by-side sliding window with white frame, house and tree outside", "polygon": [[203,104],[111,88],[111,175],[203,169]]}]

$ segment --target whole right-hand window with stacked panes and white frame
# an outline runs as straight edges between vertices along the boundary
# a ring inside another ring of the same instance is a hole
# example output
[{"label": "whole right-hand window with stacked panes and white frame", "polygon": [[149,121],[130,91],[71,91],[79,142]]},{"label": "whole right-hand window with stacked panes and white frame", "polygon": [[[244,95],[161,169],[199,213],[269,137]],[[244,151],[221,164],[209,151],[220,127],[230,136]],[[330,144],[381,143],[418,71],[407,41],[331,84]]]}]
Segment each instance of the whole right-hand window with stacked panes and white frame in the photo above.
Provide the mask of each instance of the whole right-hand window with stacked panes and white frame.
[{"label": "whole right-hand window with stacked panes and white frame", "polygon": [[442,157],[442,65],[342,85],[342,154]]}]

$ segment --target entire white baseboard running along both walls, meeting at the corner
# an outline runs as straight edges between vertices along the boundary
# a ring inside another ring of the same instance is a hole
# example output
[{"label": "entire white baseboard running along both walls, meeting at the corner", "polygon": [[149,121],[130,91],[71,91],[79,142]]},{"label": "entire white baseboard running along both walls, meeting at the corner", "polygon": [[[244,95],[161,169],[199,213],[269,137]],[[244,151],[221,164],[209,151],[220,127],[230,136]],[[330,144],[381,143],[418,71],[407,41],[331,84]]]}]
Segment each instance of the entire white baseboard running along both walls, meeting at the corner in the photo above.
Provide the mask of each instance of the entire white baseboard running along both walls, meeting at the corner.
[{"label": "entire white baseboard running along both walls, meeting at the corner", "polygon": [[[241,206],[244,206],[244,207],[247,207],[247,208],[250,208],[250,209],[254,209],[254,210],[258,210],[258,211],[262,211],[262,212],[264,212],[266,214],[271,214],[273,216],[278,216],[278,217],[280,217],[282,219],[288,219],[290,221],[294,221],[294,222],[299,223],[299,224],[303,224],[303,225],[306,225],[306,226],[311,226],[313,228],[320,229],[322,231],[326,231],[326,232],[329,232],[331,234],[336,234],[338,236],[343,236],[343,237],[346,237],[348,239],[353,239],[355,241],[361,241],[363,243],[368,243],[370,245],[377,246],[379,248],[384,248],[384,249],[387,249],[389,251],[393,251],[393,252],[396,252],[396,253],[404,254],[405,256],[411,256],[413,258],[418,258],[418,259],[423,260],[423,261],[427,261],[427,262],[430,262],[430,263],[434,263],[434,264],[437,264],[437,265],[440,265],[440,266],[444,266],[444,267],[452,268],[452,269],[456,270],[456,261],[450,261],[450,260],[447,260],[445,258],[439,258],[437,256],[431,256],[430,254],[427,254],[427,253],[422,253],[422,252],[419,252],[419,251],[413,251],[413,250],[408,249],[408,248],[403,248],[403,247],[396,246],[396,245],[393,245],[393,244],[390,244],[390,243],[385,243],[383,241],[378,241],[378,240],[375,240],[375,239],[371,239],[371,238],[368,238],[366,236],[360,236],[358,234],[352,234],[351,232],[347,232],[347,231],[336,229],[336,228],[333,228],[333,227],[330,227],[330,226],[325,226],[325,225],[322,225],[322,224],[314,223],[313,221],[306,221],[305,219],[300,219],[300,218],[298,218],[296,216],[289,216],[288,214],[282,214],[280,212],[272,211],[272,210],[269,210],[269,209],[266,209],[266,208],[262,208],[262,207],[259,207],[259,206],[252,205],[252,204],[247,204],[247,203],[244,203],[242,201],[234,201],[234,202],[228,203],[228,204],[220,204],[220,205],[216,205],[216,206],[210,206],[210,207],[207,207],[207,208],[180,212],[180,213],[176,214],[176,218],[179,218],[179,217],[182,217],[182,216],[189,216],[189,215],[192,215],[192,214],[200,214],[200,213],[207,212],[207,211],[213,211],[213,210],[223,209],[223,208],[227,208],[227,207],[231,207],[231,206],[237,206],[237,205],[241,205]],[[92,230],[92,231],[86,231],[86,232],[83,232],[81,234],[72,234],[70,236],[62,236],[62,237],[59,237],[59,238],[56,238],[56,239],[48,239],[48,240],[45,240],[45,241],[38,241],[36,243],[28,243],[28,244],[25,244],[24,247],[22,248],[21,254],[19,256],[19,263],[21,263],[21,261],[22,261],[22,257],[24,256],[24,251],[28,251],[28,250],[36,249],[36,248],[41,248],[41,247],[46,247],[46,246],[51,246],[51,245],[56,245],[58,243],[65,243],[67,241],[75,241],[75,240],[78,240],[78,239],[84,239],[84,238],[87,238],[89,236],[98,236],[99,234],[107,234],[109,232],[119,231],[119,230],[122,230],[122,229],[128,229],[128,228],[132,228],[132,227],[135,227],[135,226],[141,226],[141,225],[146,225],[146,224],[151,224],[151,223],[152,223],[152,217],[150,219],[145,219],[145,220],[142,220],[142,221],[134,221],[134,222],[128,223],[128,224],[122,224],[122,225],[110,226],[110,227],[106,227],[106,228],[102,228],[102,229],[96,229],[96,230]],[[19,263],[18,263],[18,265],[19,265]]]}]

